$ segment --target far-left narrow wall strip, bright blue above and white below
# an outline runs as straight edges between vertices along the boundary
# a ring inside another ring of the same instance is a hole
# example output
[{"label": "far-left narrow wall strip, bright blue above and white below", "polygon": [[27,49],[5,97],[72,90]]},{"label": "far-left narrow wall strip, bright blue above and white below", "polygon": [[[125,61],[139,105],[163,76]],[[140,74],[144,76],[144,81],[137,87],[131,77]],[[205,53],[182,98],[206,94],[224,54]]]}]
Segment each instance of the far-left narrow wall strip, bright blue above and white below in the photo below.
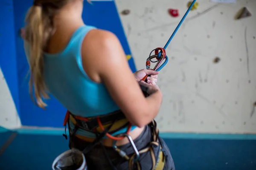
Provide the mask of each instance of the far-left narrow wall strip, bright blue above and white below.
[{"label": "far-left narrow wall strip, bright blue above and white below", "polygon": [[13,3],[0,1],[0,126],[20,127]]}]

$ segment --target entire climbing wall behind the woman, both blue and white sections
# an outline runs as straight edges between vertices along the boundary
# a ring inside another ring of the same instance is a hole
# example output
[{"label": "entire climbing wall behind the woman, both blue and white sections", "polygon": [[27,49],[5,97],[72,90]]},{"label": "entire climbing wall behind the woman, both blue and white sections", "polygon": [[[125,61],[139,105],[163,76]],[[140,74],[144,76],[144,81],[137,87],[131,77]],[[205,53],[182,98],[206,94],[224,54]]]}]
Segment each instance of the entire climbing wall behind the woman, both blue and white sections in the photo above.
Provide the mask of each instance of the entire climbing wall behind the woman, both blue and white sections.
[{"label": "entire climbing wall behind the woman, both blue and white sections", "polygon": [[[85,23],[113,31],[135,71],[145,68],[151,50],[166,44],[189,0],[92,2],[84,6]],[[158,126],[162,132],[256,133],[256,0],[197,2],[166,50],[169,62],[158,79],[163,92]],[[55,99],[44,111],[28,94],[18,31],[32,0],[0,3],[0,126],[62,127],[66,110]],[[243,7],[252,16],[236,20]],[[170,8],[179,16],[171,16]]]}]

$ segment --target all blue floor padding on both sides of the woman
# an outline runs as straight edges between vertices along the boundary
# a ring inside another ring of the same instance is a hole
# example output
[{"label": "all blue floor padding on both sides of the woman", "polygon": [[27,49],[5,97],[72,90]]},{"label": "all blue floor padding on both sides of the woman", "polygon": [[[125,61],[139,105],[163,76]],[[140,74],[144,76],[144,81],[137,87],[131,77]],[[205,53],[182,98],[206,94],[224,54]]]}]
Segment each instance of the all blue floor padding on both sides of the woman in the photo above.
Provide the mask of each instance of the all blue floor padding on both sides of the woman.
[{"label": "all blue floor padding on both sides of the woman", "polygon": [[[0,133],[1,144],[10,132]],[[176,170],[256,170],[256,140],[165,139]],[[61,135],[18,133],[0,156],[0,170],[51,170],[68,150]]]}]

